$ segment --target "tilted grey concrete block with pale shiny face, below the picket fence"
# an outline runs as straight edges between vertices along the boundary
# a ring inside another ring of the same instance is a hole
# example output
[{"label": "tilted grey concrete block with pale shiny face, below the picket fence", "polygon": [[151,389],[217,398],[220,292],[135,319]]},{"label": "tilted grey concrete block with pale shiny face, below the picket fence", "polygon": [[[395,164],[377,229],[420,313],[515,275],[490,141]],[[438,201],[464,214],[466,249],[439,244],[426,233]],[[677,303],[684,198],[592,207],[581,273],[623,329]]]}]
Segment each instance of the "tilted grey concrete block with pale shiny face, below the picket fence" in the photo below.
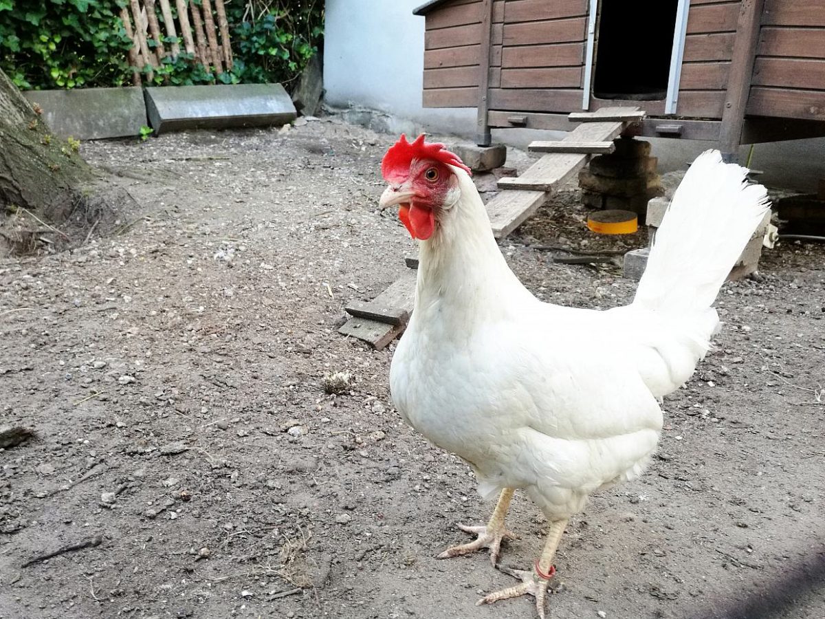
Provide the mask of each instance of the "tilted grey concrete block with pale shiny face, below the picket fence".
[{"label": "tilted grey concrete block with pale shiny face, below the picket fence", "polygon": [[285,125],[297,116],[281,84],[149,87],[146,111],[156,133]]}]

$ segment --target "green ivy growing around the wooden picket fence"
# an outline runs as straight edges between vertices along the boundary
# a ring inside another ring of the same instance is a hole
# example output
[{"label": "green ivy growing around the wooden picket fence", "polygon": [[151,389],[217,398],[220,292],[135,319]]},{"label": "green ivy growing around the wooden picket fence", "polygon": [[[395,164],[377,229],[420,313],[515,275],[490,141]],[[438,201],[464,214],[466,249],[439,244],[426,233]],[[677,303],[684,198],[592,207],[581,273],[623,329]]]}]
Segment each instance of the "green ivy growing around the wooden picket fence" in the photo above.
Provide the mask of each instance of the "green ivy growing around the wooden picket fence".
[{"label": "green ivy growing around the wooden picket fence", "polygon": [[[200,0],[191,1],[200,5]],[[119,17],[127,3],[0,0],[0,69],[24,90],[129,85],[135,70],[127,60],[132,41]],[[232,37],[231,70],[209,73],[192,54],[181,53],[175,59],[167,56],[159,67],[144,67],[144,83],[151,72],[158,86],[288,84],[318,53],[323,0],[226,0],[225,6]],[[174,4],[172,12],[177,14]],[[153,40],[148,44],[156,45]]]}]

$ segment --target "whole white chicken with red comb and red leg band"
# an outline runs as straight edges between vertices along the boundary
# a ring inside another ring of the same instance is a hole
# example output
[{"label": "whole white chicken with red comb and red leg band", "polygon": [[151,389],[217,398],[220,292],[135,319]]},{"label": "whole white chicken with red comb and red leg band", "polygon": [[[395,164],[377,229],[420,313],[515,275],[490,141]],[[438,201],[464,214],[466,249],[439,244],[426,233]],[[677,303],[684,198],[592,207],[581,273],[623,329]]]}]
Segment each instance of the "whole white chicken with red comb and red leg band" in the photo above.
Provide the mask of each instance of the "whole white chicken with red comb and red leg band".
[{"label": "whole white chicken with red comb and red leg band", "polygon": [[540,617],[568,518],[588,495],[639,476],[662,429],[658,398],[693,373],[719,326],[719,287],[769,208],[766,191],[717,151],[696,158],[658,229],[632,304],[599,311],[537,300],[512,273],[469,169],[442,144],[404,135],[381,165],[381,206],[420,239],[415,311],[390,369],[413,428],[474,470],[497,506],[475,541],[496,565],[514,489],[549,521],[522,583],[480,603],[530,593]]}]

